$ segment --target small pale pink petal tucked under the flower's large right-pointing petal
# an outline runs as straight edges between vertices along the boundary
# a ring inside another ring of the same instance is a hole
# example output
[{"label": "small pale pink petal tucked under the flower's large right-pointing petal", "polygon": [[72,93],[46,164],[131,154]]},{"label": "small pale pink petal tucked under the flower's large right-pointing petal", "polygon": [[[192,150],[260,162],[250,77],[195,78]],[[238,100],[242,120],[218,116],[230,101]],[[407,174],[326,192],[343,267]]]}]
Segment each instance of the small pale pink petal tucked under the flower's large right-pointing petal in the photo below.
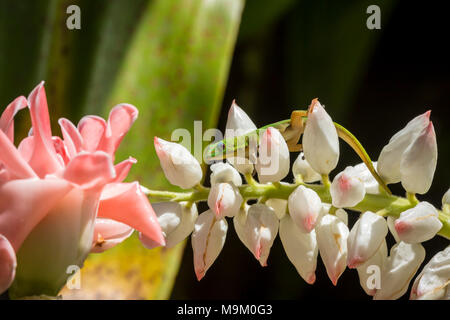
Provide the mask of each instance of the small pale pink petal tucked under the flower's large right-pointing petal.
[{"label": "small pale pink petal tucked under the flower's large right-pointing petal", "polygon": [[95,220],[94,239],[91,252],[100,253],[127,239],[134,229],[111,219]]}]

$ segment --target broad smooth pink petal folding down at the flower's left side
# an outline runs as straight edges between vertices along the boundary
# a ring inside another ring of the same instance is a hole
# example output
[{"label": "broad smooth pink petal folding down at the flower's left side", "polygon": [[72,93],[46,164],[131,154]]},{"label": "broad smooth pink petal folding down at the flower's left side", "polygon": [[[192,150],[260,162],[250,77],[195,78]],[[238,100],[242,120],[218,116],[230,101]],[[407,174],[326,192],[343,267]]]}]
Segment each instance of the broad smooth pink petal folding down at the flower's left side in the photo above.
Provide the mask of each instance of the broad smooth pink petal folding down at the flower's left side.
[{"label": "broad smooth pink petal folding down at the flower's left side", "polygon": [[0,187],[0,234],[14,250],[71,189],[62,179],[12,180]]}]

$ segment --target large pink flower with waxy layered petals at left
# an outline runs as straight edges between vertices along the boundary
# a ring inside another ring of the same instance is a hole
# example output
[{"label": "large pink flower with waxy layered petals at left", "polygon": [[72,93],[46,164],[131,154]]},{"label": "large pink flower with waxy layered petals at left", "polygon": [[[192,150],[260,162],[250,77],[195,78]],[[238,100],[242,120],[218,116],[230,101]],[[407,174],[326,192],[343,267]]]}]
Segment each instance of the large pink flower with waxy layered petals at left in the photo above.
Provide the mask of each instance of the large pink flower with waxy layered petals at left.
[{"label": "large pink flower with waxy layered petals at left", "polygon": [[[28,105],[32,130],[14,146],[15,114]],[[138,182],[123,183],[136,160],[114,153],[138,110],[120,104],[106,122],[60,119],[52,136],[44,83],[0,118],[0,292],[56,295],[69,265],[82,266],[133,229],[164,245],[156,215]],[[16,268],[17,264],[17,268]],[[14,281],[14,283],[13,283]],[[33,285],[28,285],[32,282]]]}]

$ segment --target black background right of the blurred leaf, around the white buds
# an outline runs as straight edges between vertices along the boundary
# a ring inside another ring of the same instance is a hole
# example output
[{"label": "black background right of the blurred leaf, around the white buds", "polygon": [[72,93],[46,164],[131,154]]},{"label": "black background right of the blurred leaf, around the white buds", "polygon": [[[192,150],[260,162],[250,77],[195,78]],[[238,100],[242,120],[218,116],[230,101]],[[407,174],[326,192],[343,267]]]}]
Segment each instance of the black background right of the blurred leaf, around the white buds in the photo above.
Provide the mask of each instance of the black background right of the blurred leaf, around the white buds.
[{"label": "black background right of the blurred leaf, around the white buds", "polygon": [[[318,97],[375,160],[396,131],[431,109],[438,165],[433,186],[419,199],[440,205],[450,180],[448,6],[443,1],[282,2],[288,3],[286,8],[264,23],[261,17],[270,8],[247,2],[219,128],[224,128],[234,98],[262,126],[289,118],[293,109],[304,109]],[[381,30],[366,28],[369,4],[381,8]],[[335,172],[357,162],[341,144]],[[391,189],[402,192],[400,186]],[[355,214],[350,216],[354,221]],[[425,242],[425,262],[446,245],[448,240],[439,237]],[[279,238],[268,267],[260,267],[240,243],[231,220],[224,249],[201,282],[195,278],[190,242],[187,246],[171,296],[175,299],[370,299],[356,270],[346,270],[334,287],[320,259],[316,283],[307,285]]]}]

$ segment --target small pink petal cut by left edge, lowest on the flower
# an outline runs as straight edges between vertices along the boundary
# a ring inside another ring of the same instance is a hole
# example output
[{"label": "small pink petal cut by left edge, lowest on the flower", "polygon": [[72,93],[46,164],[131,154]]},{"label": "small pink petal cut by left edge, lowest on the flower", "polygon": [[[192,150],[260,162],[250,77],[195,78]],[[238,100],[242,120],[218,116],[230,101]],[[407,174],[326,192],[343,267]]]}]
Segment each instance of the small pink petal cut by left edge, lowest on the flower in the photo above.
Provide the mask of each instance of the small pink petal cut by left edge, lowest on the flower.
[{"label": "small pink petal cut by left edge, lowest on the flower", "polygon": [[16,275],[16,253],[11,243],[0,234],[0,293],[6,291]]}]

